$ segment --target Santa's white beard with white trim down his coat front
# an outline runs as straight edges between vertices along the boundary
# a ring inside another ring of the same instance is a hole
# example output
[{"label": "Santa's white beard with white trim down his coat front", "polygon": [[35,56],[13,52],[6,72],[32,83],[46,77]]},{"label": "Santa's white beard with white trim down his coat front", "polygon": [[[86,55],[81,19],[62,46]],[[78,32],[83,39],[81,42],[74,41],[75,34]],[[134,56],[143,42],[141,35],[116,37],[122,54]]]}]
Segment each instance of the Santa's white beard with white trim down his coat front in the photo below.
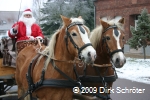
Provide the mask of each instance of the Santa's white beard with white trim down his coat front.
[{"label": "Santa's white beard with white trim down his coat front", "polygon": [[35,18],[25,18],[24,16],[22,16],[19,21],[24,22],[24,24],[26,25],[26,36],[30,36],[31,35],[31,26],[35,23]]}]

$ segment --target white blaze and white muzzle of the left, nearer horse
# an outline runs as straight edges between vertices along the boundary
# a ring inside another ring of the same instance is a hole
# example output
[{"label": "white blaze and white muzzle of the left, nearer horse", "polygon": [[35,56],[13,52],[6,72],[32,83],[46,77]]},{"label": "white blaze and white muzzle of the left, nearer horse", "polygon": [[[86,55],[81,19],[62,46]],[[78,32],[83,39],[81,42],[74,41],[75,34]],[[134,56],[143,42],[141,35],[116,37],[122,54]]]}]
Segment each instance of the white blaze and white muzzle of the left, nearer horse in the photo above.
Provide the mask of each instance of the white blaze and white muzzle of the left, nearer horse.
[{"label": "white blaze and white muzzle of the left, nearer horse", "polygon": [[[84,30],[84,32],[82,32],[81,28]],[[88,33],[85,30],[85,28],[83,26],[78,26],[78,30],[79,30],[81,39],[84,42],[84,44],[91,43],[88,37]],[[86,63],[88,63],[89,61],[92,61],[89,63],[93,63],[96,58],[96,51],[92,46],[87,46],[81,51],[81,56],[84,58]]]}]

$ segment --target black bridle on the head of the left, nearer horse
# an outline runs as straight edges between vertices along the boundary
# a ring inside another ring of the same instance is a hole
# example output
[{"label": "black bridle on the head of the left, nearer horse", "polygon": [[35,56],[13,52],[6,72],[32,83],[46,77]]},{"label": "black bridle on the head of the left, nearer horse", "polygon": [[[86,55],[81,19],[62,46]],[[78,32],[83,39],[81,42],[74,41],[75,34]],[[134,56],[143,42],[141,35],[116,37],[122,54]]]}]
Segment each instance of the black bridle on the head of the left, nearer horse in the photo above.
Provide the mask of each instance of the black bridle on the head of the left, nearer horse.
[{"label": "black bridle on the head of the left, nearer horse", "polygon": [[[65,36],[66,47],[67,47],[67,50],[68,50],[68,38],[69,38],[70,42],[73,44],[74,48],[76,48],[78,50],[78,57],[79,57],[79,59],[83,59],[83,57],[81,55],[82,50],[84,48],[86,48],[87,46],[92,46],[92,44],[91,43],[87,43],[87,44],[84,44],[81,48],[78,47],[78,45],[74,42],[74,40],[72,39],[70,33],[68,32],[68,29],[70,27],[72,27],[72,26],[75,26],[75,25],[78,25],[79,28],[80,28],[81,25],[83,25],[83,24],[80,23],[80,22],[73,22],[73,23],[71,23],[70,25],[67,26],[67,28],[66,28],[66,36]],[[81,28],[81,31],[83,32],[84,30]]]}]

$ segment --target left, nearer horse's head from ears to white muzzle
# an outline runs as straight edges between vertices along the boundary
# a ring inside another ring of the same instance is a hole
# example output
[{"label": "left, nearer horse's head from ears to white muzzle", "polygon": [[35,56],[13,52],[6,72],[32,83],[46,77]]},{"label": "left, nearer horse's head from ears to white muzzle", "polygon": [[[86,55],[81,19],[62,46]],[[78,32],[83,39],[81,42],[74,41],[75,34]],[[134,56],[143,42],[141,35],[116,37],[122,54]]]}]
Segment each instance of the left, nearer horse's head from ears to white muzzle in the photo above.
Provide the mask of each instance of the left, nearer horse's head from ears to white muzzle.
[{"label": "left, nearer horse's head from ears to white muzzle", "polygon": [[96,51],[92,47],[88,34],[89,29],[84,25],[83,19],[67,18],[61,16],[65,27],[65,42],[68,53],[78,56],[86,63],[93,63],[96,58]]}]

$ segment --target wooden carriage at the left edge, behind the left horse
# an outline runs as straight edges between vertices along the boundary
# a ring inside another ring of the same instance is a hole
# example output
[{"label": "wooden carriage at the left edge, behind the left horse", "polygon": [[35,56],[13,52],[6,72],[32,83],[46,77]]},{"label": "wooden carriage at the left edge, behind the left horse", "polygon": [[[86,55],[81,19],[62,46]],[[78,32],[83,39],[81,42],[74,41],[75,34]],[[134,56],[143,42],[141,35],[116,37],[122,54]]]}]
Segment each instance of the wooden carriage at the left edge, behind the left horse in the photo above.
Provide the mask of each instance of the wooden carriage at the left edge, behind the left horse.
[{"label": "wooden carriage at the left edge, behind the left horse", "polygon": [[[6,53],[8,51],[6,49],[7,45],[5,45],[6,48],[3,46],[4,51],[2,51],[2,39],[0,42],[0,47],[0,100],[2,100],[3,97],[15,96],[17,94],[7,94],[8,90],[16,84],[14,79],[15,68],[14,66],[9,66],[8,59],[10,59],[11,56],[7,55]],[[4,55],[4,53],[7,55],[7,57]]]}]

